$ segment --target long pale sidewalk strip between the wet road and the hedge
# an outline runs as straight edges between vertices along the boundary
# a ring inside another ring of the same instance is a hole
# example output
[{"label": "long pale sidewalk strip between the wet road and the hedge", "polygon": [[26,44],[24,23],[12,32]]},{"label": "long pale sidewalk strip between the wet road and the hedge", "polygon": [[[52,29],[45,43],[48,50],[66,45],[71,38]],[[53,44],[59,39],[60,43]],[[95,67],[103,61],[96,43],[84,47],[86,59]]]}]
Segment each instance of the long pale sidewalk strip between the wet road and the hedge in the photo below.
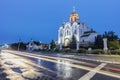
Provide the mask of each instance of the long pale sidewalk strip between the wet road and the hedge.
[{"label": "long pale sidewalk strip between the wet road and the hedge", "polygon": [[110,64],[120,64],[120,55],[97,55],[97,54],[78,54],[78,53],[43,53],[43,52],[30,52],[35,54],[43,54],[49,56],[57,56],[71,59],[82,59],[96,62],[105,62]]}]

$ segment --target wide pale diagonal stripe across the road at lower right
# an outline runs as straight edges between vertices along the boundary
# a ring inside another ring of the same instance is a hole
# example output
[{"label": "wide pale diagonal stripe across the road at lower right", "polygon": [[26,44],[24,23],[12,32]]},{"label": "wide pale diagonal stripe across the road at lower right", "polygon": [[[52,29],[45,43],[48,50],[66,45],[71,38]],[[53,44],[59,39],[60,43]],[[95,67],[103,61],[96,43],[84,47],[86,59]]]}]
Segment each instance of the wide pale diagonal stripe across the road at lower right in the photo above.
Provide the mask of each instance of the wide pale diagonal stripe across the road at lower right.
[{"label": "wide pale diagonal stripe across the road at lower right", "polygon": [[81,77],[79,80],[90,80],[100,69],[102,69],[107,63],[101,63],[99,66],[97,66],[95,69],[91,70],[87,74],[85,74],[83,77]]}]

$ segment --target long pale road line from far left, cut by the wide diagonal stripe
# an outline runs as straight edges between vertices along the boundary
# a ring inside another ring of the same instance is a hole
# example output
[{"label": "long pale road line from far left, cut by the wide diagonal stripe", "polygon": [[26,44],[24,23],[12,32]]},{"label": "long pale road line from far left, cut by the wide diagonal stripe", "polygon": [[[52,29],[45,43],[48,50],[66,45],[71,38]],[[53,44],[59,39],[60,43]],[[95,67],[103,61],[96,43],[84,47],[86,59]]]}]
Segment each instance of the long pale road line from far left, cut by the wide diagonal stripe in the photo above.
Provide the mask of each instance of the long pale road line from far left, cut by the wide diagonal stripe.
[{"label": "long pale road line from far left, cut by the wide diagonal stripe", "polygon": [[[58,62],[58,61],[53,60],[53,59],[51,60],[51,59],[46,59],[46,58],[40,57],[39,55],[34,55],[34,54],[30,54],[30,53],[26,54],[26,52],[18,52],[18,51],[12,51],[12,50],[4,50],[4,51],[9,52],[10,54],[13,53],[13,54],[16,54],[16,55],[19,55],[19,56],[22,55],[22,56],[27,56],[27,57],[38,58],[38,59],[42,59],[42,60],[57,63],[57,64],[63,64],[63,65],[66,65],[66,66],[75,67],[75,68],[78,68],[78,69],[84,69],[84,70],[88,70],[88,71],[91,71],[93,69],[93,68],[90,68],[90,67],[76,65],[76,64],[65,64],[63,62]],[[59,59],[57,59],[57,60],[59,60]],[[100,70],[97,73],[103,74],[103,75],[106,75],[106,76],[115,77],[115,78],[120,78],[120,75],[117,74],[117,73],[107,72],[107,71],[103,71],[103,70]]]}]

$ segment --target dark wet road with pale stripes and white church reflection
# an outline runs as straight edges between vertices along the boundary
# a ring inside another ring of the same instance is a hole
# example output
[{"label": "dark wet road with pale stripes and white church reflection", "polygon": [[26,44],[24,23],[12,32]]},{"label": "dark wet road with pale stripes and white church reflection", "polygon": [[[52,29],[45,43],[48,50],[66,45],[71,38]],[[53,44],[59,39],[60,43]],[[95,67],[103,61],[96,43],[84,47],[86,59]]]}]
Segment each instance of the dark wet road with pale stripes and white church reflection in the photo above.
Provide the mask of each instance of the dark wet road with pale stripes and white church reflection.
[{"label": "dark wet road with pale stripes and white church reflection", "polygon": [[[55,54],[48,56],[24,52],[10,53],[26,57],[36,65],[47,68],[48,70],[38,68],[38,72],[48,75],[54,80],[120,80],[120,67],[118,65],[63,58]],[[40,80],[52,79],[41,78]]]}]

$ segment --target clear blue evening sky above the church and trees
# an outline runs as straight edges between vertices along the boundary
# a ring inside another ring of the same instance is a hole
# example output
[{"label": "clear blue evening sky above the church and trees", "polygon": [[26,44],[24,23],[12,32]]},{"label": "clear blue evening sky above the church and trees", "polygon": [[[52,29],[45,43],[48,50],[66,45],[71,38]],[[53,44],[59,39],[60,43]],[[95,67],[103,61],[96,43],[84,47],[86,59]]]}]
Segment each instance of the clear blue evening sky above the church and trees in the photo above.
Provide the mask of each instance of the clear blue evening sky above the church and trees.
[{"label": "clear blue evening sky above the church and trees", "polygon": [[73,6],[80,22],[99,34],[112,30],[120,36],[120,0],[0,0],[0,44],[57,40]]}]

